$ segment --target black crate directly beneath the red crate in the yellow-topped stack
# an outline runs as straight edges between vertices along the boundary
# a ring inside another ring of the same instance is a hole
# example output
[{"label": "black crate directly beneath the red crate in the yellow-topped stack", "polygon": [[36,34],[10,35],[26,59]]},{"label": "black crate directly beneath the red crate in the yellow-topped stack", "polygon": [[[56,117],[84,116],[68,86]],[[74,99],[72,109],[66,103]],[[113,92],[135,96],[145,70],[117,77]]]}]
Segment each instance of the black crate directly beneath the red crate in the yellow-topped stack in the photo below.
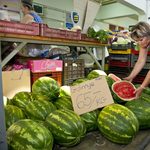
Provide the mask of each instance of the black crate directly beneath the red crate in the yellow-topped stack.
[{"label": "black crate directly beneath the red crate in the yellow-topped stack", "polygon": [[109,72],[113,74],[125,74],[129,75],[131,73],[131,67],[118,67],[118,66],[110,66]]}]

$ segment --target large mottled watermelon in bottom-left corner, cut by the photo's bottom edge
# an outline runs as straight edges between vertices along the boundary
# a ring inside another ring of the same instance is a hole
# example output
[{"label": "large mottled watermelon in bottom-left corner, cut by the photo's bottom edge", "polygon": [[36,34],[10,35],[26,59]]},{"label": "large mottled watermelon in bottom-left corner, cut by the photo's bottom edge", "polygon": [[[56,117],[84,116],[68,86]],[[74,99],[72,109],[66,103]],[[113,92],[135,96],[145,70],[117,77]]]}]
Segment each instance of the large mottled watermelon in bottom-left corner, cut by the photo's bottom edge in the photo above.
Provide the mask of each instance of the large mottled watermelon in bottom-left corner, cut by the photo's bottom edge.
[{"label": "large mottled watermelon in bottom-left corner, cut by the photo's bottom edge", "polygon": [[52,150],[51,132],[33,120],[23,119],[12,124],[7,132],[8,148],[12,150]]}]

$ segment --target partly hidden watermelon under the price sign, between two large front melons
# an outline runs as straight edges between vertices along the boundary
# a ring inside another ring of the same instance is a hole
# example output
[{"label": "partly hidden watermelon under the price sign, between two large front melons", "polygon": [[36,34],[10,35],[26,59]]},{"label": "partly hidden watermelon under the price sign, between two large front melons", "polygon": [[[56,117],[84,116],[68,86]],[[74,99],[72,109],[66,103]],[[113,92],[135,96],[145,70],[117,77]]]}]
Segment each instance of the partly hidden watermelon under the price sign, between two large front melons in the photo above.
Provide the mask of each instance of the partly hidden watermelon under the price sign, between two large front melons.
[{"label": "partly hidden watermelon under the price sign, between two large front melons", "polygon": [[94,111],[90,111],[80,115],[80,117],[85,122],[87,131],[94,131],[97,129],[97,119],[98,119],[99,112],[100,111],[96,109]]}]

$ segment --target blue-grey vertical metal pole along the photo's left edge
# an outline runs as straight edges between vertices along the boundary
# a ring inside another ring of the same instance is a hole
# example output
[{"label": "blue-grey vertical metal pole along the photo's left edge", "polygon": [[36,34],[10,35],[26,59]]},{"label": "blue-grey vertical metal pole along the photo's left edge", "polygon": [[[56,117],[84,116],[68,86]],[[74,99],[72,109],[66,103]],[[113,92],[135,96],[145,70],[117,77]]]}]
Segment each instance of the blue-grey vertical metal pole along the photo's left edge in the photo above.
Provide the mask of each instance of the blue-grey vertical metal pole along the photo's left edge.
[{"label": "blue-grey vertical metal pole along the photo's left edge", "polygon": [[[0,37],[0,69],[1,69],[1,37]],[[7,150],[5,113],[3,103],[2,70],[0,70],[0,150]]]}]

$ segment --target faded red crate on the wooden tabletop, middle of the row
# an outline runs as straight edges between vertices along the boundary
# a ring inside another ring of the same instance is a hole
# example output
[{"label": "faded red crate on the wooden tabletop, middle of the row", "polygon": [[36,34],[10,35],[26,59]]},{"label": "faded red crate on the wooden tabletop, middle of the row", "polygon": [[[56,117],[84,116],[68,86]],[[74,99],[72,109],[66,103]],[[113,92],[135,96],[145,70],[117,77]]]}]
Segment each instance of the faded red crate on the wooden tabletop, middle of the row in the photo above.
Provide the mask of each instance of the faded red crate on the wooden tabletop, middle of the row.
[{"label": "faded red crate on the wooden tabletop, middle of the row", "polygon": [[50,28],[47,24],[40,23],[40,36],[52,37],[52,38],[61,38],[61,39],[70,39],[70,40],[81,40],[81,30],[68,31],[56,28]]}]

